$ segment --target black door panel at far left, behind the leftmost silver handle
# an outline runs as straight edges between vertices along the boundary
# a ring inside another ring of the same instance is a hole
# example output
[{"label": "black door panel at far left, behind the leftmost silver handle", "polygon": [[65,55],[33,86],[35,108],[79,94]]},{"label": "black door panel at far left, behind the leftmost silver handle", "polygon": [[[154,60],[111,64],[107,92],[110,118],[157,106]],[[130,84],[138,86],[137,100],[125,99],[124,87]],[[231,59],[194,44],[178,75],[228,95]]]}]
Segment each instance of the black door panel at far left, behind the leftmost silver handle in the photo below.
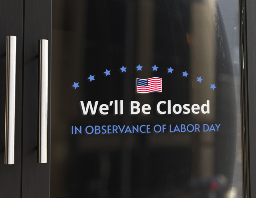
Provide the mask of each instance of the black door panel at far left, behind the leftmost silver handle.
[{"label": "black door panel at far left, behind the leftmost silver handle", "polygon": [[[5,85],[7,36],[16,36],[14,164],[5,165]],[[21,190],[23,1],[0,1],[0,197],[18,197]]]}]

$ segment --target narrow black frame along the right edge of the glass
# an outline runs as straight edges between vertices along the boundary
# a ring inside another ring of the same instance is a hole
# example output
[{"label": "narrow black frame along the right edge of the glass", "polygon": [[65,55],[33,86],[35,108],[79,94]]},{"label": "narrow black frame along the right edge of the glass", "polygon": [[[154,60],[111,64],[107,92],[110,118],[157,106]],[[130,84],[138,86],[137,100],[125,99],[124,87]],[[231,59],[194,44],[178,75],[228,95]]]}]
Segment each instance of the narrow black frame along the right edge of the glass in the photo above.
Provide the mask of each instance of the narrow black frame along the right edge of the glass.
[{"label": "narrow black frame along the right edge of the glass", "polygon": [[244,197],[256,197],[256,2],[241,2],[244,104]]}]

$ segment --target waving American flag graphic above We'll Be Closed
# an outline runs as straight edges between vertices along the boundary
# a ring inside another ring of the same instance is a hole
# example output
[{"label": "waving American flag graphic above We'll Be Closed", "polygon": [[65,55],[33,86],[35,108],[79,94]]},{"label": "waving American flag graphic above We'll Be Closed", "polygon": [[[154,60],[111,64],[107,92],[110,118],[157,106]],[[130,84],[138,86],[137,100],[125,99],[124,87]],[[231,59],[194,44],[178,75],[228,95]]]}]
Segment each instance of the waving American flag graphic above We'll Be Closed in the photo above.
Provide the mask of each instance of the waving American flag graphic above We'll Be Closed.
[{"label": "waving American flag graphic above We'll Be Closed", "polygon": [[162,92],[162,79],[137,79],[137,93]]}]

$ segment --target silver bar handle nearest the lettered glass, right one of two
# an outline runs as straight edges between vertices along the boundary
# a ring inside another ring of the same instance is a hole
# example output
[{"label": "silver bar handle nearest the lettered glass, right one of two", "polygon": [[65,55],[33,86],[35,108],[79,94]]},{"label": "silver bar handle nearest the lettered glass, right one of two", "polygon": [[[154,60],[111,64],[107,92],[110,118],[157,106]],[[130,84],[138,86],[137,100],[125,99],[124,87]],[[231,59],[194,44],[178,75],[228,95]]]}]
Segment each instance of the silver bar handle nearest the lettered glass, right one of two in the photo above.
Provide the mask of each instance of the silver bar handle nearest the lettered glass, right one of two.
[{"label": "silver bar handle nearest the lettered glass, right one of two", "polygon": [[39,120],[37,162],[47,163],[48,40],[39,41]]}]

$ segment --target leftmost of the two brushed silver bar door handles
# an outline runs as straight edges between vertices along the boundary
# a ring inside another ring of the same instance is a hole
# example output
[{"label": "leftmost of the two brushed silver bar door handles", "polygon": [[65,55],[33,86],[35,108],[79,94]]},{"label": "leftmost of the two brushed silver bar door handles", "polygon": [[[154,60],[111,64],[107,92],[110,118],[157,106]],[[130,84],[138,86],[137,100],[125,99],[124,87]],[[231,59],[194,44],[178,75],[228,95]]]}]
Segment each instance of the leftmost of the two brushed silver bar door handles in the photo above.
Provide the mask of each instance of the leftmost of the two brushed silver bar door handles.
[{"label": "leftmost of the two brushed silver bar door handles", "polygon": [[5,95],[5,164],[14,164],[16,36],[7,36]]}]

